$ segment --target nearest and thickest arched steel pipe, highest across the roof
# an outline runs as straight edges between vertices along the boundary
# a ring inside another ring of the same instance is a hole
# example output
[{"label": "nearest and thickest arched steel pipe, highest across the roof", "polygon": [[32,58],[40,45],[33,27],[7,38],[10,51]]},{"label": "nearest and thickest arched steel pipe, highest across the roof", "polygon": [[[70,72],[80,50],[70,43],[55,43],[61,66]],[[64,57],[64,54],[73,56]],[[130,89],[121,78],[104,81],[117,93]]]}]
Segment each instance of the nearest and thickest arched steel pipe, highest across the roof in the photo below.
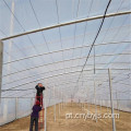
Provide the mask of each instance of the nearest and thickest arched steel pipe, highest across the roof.
[{"label": "nearest and thickest arched steel pipe, highest across the roof", "polygon": [[[109,13],[109,14],[106,14],[105,17],[118,16],[118,15],[130,14],[130,13],[131,13],[131,11]],[[47,29],[51,29],[51,28],[56,28],[56,27],[61,27],[61,26],[66,26],[66,25],[71,25],[71,24],[76,24],[76,23],[81,23],[81,22],[98,20],[98,19],[103,19],[103,17],[104,17],[104,15],[98,15],[98,16],[92,16],[92,17],[81,19],[81,20],[76,20],[76,21],[71,21],[71,22],[67,22],[67,23],[60,23],[60,24],[57,24],[57,25],[47,26],[47,27],[44,27],[44,28],[34,29],[34,31],[29,31],[29,32],[26,32],[26,33],[21,33],[21,34],[17,34],[17,35],[4,37],[4,38],[1,38],[1,40],[8,40],[8,39],[11,39],[11,38],[28,35],[28,34],[33,34],[33,33],[37,33],[37,32],[43,32],[43,31],[47,31]]]}]

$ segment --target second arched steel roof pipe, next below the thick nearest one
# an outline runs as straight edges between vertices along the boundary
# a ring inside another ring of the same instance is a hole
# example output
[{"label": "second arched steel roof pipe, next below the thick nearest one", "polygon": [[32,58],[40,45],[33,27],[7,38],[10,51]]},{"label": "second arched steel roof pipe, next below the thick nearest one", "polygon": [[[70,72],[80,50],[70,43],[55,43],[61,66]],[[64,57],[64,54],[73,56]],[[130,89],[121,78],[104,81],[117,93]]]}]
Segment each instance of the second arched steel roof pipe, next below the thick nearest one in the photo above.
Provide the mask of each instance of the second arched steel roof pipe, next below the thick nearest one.
[{"label": "second arched steel roof pipe, next below the thick nearest one", "polygon": [[[128,53],[108,53],[108,55],[97,55],[95,57],[122,56],[122,55],[131,55],[131,53],[129,53],[129,52]],[[90,56],[88,58],[92,58],[92,57],[94,57],[94,56]],[[21,70],[21,71],[17,71],[17,72],[13,72],[13,73],[3,75],[2,78],[9,76],[9,75],[12,75],[12,74],[15,74],[15,73],[20,73],[20,72],[23,72],[23,71],[32,70],[32,69],[35,69],[35,68],[45,67],[45,66],[48,66],[48,64],[55,64],[55,63],[60,63],[60,62],[63,62],[63,61],[71,61],[71,60],[85,59],[85,58],[86,57],[80,57],[80,58],[75,58],[75,59],[68,59],[68,60],[57,61],[57,62],[47,63],[47,64],[43,64],[43,66],[37,66],[37,67],[28,68],[28,69],[25,69],[25,70]]]}]

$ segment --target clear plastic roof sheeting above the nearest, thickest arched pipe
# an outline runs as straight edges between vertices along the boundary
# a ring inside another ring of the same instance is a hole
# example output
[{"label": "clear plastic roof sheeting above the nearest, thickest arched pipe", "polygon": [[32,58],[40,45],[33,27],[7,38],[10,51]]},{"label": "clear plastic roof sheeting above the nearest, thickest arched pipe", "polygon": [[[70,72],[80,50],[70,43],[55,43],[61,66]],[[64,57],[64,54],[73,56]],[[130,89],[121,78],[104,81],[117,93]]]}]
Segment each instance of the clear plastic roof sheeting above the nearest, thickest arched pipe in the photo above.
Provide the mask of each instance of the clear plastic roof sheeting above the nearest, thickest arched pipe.
[{"label": "clear plastic roof sheeting above the nearest, thickest arched pipe", "polygon": [[[57,0],[57,3],[56,0],[1,0],[0,38],[58,23],[103,15],[108,0],[103,2],[102,0]],[[130,4],[130,0],[112,0],[107,13],[128,11]],[[16,17],[13,20],[12,33],[11,11]]]}]

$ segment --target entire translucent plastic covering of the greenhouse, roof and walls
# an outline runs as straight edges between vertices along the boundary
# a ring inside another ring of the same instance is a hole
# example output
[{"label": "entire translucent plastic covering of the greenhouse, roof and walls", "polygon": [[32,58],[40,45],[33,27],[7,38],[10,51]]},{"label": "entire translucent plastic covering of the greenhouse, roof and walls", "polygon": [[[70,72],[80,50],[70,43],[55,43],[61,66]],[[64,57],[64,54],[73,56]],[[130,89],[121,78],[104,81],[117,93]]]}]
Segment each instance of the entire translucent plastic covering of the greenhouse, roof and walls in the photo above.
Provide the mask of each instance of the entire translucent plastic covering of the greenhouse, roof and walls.
[{"label": "entire translucent plastic covering of the greenhouse, roof and walls", "polygon": [[[0,0],[0,38],[103,16],[107,3],[108,0]],[[111,0],[106,14],[130,12],[130,0]],[[46,87],[47,107],[62,100],[94,103],[91,99],[95,96],[96,104],[109,106],[108,69],[115,105],[119,102],[120,110],[131,111],[131,14],[105,17],[91,50],[102,22],[103,17],[3,40],[1,96],[7,99],[0,102],[0,124],[31,114],[39,82]],[[13,97],[17,97],[17,108]]]}]

